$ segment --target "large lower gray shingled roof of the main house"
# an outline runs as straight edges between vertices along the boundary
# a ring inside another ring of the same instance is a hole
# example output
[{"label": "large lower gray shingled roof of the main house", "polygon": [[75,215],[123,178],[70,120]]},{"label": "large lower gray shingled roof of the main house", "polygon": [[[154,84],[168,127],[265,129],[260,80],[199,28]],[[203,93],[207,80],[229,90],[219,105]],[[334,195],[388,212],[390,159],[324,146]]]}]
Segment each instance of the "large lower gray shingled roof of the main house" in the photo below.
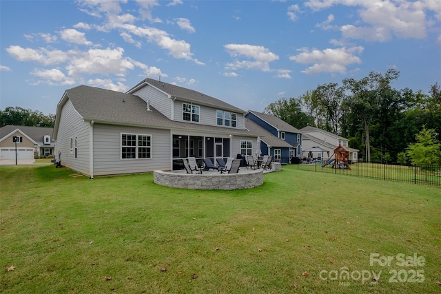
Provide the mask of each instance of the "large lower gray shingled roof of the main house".
[{"label": "large lower gray shingled roof of the main house", "polygon": [[[57,113],[61,113],[61,108],[68,100],[72,102],[76,112],[78,112],[84,120],[94,120],[95,123],[162,129],[195,129],[215,134],[230,132],[231,134],[253,136],[245,129],[226,129],[225,127],[198,123],[176,122],[170,120],[152,106],[150,106],[150,110],[147,110],[147,103],[139,98],[139,96],[104,90],[98,87],[80,85],[66,90],[63,98],[61,98],[61,101],[57,105]],[[58,125],[59,118],[57,117],[55,120],[54,138],[57,137]]]}]

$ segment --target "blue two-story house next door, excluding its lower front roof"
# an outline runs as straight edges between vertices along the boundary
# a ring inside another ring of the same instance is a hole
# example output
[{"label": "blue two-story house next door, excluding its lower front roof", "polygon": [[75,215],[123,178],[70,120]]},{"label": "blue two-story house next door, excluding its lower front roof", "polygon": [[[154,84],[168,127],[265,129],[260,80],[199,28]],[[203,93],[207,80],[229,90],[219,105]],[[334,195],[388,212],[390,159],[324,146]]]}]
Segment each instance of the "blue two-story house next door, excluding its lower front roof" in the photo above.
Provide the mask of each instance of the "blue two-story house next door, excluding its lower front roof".
[{"label": "blue two-story house next door, excluding its lower front roof", "polygon": [[280,144],[274,146],[265,141],[265,138],[262,138],[260,149],[263,155],[274,156],[275,160],[280,160],[281,163],[285,164],[289,162],[289,158],[299,157],[302,154],[302,134],[296,127],[289,125],[289,123],[276,116],[252,110],[248,111],[245,118],[254,121],[267,132],[289,145],[289,147],[283,147]]}]

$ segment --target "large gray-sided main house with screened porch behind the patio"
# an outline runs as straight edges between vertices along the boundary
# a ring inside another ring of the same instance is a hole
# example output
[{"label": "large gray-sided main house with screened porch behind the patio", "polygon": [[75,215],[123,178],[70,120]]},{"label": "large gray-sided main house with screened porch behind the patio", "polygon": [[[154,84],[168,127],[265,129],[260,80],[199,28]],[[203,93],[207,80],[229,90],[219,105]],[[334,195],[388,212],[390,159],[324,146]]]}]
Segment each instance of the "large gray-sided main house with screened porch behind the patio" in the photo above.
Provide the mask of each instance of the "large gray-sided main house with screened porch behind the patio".
[{"label": "large gray-sided main house with screened porch behind the patio", "polygon": [[94,176],[173,170],[182,159],[253,153],[245,111],[212,96],[146,78],[126,94],[81,85],[57,106],[56,152]]}]

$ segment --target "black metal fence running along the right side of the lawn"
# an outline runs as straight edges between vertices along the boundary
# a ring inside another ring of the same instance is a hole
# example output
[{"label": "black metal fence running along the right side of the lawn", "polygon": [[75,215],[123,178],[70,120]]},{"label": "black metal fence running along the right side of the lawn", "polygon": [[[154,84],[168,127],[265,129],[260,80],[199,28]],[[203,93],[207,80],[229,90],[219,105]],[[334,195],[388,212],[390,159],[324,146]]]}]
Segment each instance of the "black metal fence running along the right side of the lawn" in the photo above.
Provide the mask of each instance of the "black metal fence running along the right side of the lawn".
[{"label": "black metal fence running along the right side of the lawn", "polygon": [[[349,168],[348,168],[349,167]],[[326,165],[321,162],[300,163],[297,169],[318,171],[358,178],[412,182],[414,184],[441,186],[441,165],[393,165],[371,162],[355,162],[346,166]]]}]

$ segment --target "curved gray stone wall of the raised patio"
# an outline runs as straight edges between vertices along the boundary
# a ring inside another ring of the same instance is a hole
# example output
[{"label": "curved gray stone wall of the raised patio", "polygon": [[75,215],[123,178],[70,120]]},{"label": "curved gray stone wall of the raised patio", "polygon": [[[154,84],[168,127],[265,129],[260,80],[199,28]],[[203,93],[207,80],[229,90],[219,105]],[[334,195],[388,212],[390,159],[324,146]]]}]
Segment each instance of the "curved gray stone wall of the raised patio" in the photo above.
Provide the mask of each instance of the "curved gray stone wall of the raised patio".
[{"label": "curved gray stone wall of the raised patio", "polygon": [[154,171],[154,182],[173,188],[198,190],[249,189],[263,184],[263,174],[280,171],[280,163],[272,162],[272,169],[246,169],[240,167],[238,174],[220,174],[218,171],[204,171],[203,174],[186,174],[185,171]]}]

